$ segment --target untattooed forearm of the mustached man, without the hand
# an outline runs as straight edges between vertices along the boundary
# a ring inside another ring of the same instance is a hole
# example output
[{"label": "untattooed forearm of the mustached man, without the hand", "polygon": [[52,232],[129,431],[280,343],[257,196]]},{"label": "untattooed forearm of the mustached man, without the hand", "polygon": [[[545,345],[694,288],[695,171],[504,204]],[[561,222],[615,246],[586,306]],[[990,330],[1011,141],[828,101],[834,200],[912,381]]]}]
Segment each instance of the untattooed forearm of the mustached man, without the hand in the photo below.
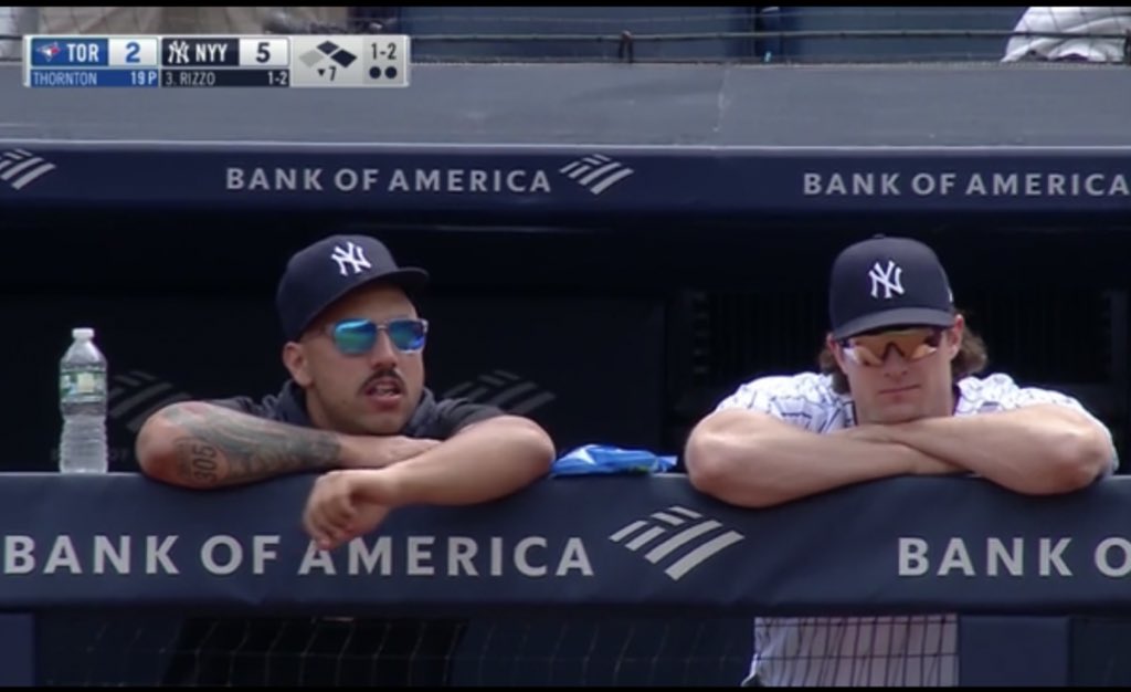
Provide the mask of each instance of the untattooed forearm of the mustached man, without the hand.
[{"label": "untattooed forearm of the mustached man, without the hand", "polygon": [[491,418],[380,471],[387,482],[364,498],[391,505],[489,502],[544,477],[553,460],[553,442],[536,424],[512,416]]}]

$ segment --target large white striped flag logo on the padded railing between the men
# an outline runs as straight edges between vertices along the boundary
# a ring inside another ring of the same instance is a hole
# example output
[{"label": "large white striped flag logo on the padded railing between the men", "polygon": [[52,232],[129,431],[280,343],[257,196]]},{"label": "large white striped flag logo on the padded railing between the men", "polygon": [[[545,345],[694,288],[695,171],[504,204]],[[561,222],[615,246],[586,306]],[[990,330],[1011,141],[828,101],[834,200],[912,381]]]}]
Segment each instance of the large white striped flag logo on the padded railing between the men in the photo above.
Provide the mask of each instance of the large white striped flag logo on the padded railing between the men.
[{"label": "large white striped flag logo on the padded railing between the men", "polygon": [[737,531],[699,512],[673,505],[633,521],[608,540],[642,553],[644,558],[664,567],[672,581],[680,581],[722,550],[743,540]]}]

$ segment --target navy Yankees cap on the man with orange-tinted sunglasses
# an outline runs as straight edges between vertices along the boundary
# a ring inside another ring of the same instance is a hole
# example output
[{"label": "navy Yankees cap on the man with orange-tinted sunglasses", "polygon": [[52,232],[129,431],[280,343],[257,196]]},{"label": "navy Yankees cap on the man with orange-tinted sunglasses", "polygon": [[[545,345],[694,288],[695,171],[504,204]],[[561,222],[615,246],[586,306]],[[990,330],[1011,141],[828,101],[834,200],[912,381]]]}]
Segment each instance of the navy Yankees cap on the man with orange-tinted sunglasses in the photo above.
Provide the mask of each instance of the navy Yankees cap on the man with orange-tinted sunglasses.
[{"label": "navy Yankees cap on the man with orange-tinted sunglasses", "polygon": [[838,341],[895,326],[950,327],[950,281],[926,245],[877,236],[845,248],[832,263],[829,319]]}]

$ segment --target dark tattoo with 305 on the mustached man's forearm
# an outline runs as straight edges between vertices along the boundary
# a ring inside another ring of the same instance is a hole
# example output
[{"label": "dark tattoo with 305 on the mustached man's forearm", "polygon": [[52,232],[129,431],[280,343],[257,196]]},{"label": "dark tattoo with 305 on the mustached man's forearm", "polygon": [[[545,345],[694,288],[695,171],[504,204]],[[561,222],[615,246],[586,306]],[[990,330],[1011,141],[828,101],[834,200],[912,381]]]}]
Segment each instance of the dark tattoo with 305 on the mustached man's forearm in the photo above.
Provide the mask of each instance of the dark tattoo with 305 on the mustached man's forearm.
[{"label": "dark tattoo with 305 on the mustached man's forearm", "polygon": [[210,404],[161,413],[183,435],[173,441],[176,473],[195,486],[228,486],[339,464],[337,436]]}]

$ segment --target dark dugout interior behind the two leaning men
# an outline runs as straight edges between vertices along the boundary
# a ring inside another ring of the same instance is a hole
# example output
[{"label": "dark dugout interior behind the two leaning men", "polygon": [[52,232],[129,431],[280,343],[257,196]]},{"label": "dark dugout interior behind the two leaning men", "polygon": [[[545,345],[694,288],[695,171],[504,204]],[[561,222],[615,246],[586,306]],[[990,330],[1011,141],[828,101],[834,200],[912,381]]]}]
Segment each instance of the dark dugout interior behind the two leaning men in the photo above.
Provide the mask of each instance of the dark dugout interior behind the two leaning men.
[{"label": "dark dugout interior behind the two leaning men", "polygon": [[[1128,215],[536,221],[269,211],[12,215],[6,225],[23,240],[0,259],[0,280],[19,336],[3,348],[9,362],[21,364],[9,386],[29,394],[35,416],[9,439],[21,448],[7,461],[51,467],[42,453],[57,434],[50,383],[80,322],[100,328],[119,374],[163,383],[137,411],[178,391],[275,392],[285,376],[273,311],[279,272],[292,251],[338,230],[372,233],[403,264],[432,273],[421,299],[434,322],[430,386],[466,394],[484,373],[517,376],[549,396],[530,415],[563,450],[593,442],[679,453],[689,426],[740,383],[814,367],[832,258],[848,242],[888,233],[936,249],[956,301],[987,341],[988,370],[1079,396],[1123,451]],[[127,426],[113,430],[121,470],[131,464]]]}]

